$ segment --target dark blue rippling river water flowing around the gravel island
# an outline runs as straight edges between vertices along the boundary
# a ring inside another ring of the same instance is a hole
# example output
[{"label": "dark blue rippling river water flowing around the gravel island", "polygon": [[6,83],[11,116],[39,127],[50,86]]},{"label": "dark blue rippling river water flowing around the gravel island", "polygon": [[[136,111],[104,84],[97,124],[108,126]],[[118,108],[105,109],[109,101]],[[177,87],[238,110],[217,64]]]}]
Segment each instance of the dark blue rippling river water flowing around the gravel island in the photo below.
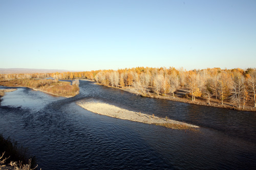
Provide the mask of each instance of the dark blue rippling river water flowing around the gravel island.
[{"label": "dark blue rippling river water flowing around the gravel island", "polygon": [[[80,81],[74,98],[29,88],[6,93],[0,133],[36,156],[42,169],[254,169],[256,113],[142,98]],[[7,87],[0,87],[7,88]],[[172,130],[98,115],[76,105],[99,100],[200,126]]]}]

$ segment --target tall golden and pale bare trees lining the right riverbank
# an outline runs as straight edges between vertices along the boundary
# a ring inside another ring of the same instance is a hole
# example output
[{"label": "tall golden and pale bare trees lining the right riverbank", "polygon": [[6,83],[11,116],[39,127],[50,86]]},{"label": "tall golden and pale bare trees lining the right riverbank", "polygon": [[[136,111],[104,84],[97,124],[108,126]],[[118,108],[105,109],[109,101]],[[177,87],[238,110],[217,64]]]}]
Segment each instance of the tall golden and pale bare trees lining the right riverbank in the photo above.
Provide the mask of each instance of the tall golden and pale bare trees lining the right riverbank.
[{"label": "tall golden and pale bare trees lining the right riverbank", "polygon": [[210,105],[211,99],[236,104],[244,108],[252,101],[256,107],[256,69],[246,70],[207,68],[189,70],[169,68],[136,67],[131,69],[100,70],[94,80],[102,85],[116,88],[131,87],[135,93],[147,96],[154,92],[157,96],[170,94],[182,88],[189,90],[192,101],[204,97]]}]

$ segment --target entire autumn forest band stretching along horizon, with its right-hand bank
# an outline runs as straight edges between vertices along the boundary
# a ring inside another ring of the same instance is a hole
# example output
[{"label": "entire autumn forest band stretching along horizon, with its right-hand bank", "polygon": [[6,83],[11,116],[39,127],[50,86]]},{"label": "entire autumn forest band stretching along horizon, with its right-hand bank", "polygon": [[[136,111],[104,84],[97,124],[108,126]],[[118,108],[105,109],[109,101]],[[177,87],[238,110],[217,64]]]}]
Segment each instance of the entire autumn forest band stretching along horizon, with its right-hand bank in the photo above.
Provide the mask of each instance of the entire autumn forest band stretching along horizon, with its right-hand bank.
[{"label": "entire autumn forest band stretching along horizon, with its right-hand bank", "polygon": [[256,108],[256,69],[207,68],[185,70],[174,67],[136,67],[118,70],[54,72],[51,74],[5,74],[1,80],[86,78],[100,85],[121,88],[152,98],[204,102],[209,106],[232,107],[238,110]]}]

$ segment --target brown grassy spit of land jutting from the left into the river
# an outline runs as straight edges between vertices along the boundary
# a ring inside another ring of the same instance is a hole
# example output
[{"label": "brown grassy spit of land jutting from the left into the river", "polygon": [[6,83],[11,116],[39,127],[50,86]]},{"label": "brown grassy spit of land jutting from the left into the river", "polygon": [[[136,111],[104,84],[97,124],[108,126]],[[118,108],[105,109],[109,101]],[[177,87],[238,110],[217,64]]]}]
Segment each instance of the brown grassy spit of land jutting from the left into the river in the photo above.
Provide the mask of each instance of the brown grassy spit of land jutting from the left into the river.
[{"label": "brown grassy spit of land jutting from the left into the river", "polygon": [[71,85],[70,82],[60,82],[58,80],[15,79],[0,81],[0,85],[8,87],[29,87],[65,97],[75,96],[79,93],[78,85]]}]

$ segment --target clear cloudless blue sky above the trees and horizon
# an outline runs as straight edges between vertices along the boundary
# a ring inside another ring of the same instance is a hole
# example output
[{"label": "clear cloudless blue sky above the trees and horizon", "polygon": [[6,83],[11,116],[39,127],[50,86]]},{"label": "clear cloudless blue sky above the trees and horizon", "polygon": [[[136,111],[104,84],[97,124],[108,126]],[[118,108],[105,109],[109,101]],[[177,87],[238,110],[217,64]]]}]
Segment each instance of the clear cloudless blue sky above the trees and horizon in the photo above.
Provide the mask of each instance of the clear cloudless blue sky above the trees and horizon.
[{"label": "clear cloudless blue sky above the trees and horizon", "polygon": [[256,1],[0,0],[0,68],[256,67]]}]

